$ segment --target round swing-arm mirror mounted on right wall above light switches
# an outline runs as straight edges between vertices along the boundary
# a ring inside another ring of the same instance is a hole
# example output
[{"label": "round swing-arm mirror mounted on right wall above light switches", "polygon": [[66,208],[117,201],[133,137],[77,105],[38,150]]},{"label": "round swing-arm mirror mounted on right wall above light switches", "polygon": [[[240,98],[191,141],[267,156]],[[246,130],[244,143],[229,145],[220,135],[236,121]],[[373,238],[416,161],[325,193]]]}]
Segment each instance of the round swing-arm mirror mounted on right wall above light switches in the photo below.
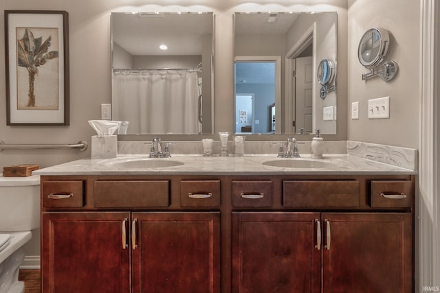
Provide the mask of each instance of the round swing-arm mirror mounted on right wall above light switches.
[{"label": "round swing-arm mirror mounted on right wall above light switches", "polygon": [[362,74],[362,80],[379,76],[388,82],[395,77],[399,69],[395,61],[386,61],[380,71],[375,70],[384,61],[389,44],[388,31],[383,28],[373,27],[364,33],[359,42],[358,58],[360,64],[370,69],[370,72]]}]

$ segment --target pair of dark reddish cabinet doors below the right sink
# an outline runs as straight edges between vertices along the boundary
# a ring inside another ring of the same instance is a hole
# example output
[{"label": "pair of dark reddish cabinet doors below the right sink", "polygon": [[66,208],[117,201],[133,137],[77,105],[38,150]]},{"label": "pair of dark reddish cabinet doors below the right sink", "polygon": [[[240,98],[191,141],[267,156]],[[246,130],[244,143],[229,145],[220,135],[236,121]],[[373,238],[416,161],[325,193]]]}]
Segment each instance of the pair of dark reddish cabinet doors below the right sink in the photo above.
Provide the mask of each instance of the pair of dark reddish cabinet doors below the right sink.
[{"label": "pair of dark reddish cabinet doors below the right sink", "polygon": [[411,215],[234,213],[232,268],[236,293],[412,292]]}]

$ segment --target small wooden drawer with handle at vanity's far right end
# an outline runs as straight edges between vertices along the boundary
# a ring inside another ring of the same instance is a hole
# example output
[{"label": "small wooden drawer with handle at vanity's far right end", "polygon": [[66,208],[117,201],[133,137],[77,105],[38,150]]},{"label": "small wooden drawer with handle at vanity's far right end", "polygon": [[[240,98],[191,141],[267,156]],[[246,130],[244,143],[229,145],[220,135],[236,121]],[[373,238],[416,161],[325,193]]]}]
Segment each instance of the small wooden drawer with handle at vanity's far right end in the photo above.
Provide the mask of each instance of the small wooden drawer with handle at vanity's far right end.
[{"label": "small wooden drawer with handle at vanity's far right end", "polygon": [[370,184],[371,207],[412,207],[412,181],[372,180]]}]

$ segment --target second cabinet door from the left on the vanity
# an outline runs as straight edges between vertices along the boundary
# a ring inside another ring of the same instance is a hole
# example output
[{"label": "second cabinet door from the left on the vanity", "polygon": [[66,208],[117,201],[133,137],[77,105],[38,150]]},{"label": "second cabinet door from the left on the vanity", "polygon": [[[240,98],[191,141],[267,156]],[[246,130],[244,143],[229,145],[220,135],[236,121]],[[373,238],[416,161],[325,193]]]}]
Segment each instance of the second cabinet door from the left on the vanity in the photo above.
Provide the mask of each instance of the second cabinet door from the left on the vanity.
[{"label": "second cabinet door from the left on the vanity", "polygon": [[133,292],[220,292],[220,213],[133,213]]}]

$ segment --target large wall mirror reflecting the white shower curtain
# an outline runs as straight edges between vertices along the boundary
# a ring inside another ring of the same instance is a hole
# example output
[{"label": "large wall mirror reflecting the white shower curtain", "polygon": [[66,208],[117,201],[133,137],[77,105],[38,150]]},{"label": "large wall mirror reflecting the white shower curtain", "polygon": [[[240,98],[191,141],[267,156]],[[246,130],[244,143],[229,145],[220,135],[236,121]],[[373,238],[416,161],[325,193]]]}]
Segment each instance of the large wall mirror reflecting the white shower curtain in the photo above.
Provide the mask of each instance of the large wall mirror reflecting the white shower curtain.
[{"label": "large wall mirror reflecting the white shower curtain", "polygon": [[111,13],[112,119],[126,134],[212,134],[212,12]]}]

